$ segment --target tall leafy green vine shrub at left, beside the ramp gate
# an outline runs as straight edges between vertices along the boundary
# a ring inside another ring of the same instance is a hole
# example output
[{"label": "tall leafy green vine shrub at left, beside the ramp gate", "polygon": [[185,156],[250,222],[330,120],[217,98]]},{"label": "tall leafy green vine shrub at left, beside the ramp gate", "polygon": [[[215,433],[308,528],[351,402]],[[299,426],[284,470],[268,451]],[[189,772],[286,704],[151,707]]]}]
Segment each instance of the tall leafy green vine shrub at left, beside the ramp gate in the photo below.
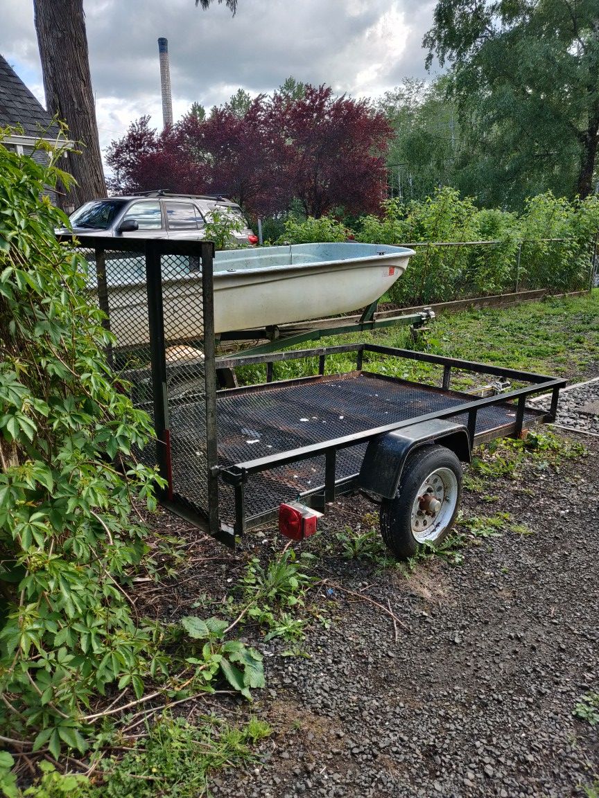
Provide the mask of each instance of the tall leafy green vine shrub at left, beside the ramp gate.
[{"label": "tall leafy green vine shrub at left, beside the ramp gate", "polygon": [[120,582],[155,474],[134,464],[153,433],[117,391],[87,265],[54,236],[66,218],[42,192],[69,176],[49,155],[0,144],[0,727],[58,757],[85,749],[94,694],[144,690],[149,630]]}]

